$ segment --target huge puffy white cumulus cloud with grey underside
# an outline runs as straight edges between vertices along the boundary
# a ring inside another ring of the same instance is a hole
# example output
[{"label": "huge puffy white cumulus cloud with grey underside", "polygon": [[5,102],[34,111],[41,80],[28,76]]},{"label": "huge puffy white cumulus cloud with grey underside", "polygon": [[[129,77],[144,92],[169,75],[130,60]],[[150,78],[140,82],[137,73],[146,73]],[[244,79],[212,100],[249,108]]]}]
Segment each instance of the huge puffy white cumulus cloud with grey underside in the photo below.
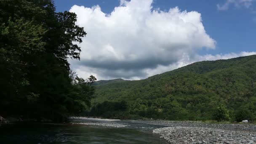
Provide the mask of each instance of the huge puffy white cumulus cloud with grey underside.
[{"label": "huge puffy white cumulus cloud with grey underside", "polygon": [[70,63],[73,69],[88,68],[98,77],[142,77],[142,69],[168,66],[183,55],[215,48],[196,11],[161,11],[152,7],[152,0],[121,0],[111,13],[102,12],[99,5],[74,5],[70,11],[88,33],[79,44],[81,60]]}]

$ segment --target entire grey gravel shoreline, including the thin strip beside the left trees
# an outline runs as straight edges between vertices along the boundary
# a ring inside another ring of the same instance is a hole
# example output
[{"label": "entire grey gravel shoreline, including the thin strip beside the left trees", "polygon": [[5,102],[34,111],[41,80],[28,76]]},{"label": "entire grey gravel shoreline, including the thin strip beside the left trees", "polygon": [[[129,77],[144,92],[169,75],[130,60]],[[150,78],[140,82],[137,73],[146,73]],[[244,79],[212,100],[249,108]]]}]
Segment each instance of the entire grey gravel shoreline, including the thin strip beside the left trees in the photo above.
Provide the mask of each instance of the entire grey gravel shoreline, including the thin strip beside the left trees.
[{"label": "entire grey gravel shoreline, including the thin strip beside the left trees", "polygon": [[160,139],[165,139],[170,144],[256,144],[256,125],[251,123],[69,118],[72,122],[66,124],[71,125],[93,125],[106,128],[131,128],[138,124],[148,125],[153,127],[149,130],[151,133],[157,134]]}]

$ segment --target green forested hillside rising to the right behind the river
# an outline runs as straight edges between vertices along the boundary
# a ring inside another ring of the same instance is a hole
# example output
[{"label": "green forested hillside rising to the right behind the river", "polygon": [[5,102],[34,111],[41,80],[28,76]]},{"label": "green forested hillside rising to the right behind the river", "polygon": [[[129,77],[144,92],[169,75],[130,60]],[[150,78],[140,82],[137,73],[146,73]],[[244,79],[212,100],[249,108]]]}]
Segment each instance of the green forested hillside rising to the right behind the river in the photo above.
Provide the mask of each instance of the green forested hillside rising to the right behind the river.
[{"label": "green forested hillside rising to the right behind the river", "polygon": [[90,116],[256,119],[256,55],[201,61],[144,80],[100,80]]}]

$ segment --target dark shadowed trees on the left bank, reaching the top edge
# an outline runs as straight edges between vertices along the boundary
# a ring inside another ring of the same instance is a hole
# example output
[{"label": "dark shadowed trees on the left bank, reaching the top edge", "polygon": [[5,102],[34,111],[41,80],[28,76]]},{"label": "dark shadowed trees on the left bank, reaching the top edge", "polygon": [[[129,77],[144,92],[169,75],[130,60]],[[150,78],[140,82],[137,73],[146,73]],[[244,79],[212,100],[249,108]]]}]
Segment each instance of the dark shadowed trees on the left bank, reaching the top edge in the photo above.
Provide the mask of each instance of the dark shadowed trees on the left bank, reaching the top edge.
[{"label": "dark shadowed trees on the left bank, reaching the top edge", "polygon": [[90,107],[96,78],[67,61],[80,59],[86,35],[75,22],[52,0],[0,0],[0,115],[63,121]]}]

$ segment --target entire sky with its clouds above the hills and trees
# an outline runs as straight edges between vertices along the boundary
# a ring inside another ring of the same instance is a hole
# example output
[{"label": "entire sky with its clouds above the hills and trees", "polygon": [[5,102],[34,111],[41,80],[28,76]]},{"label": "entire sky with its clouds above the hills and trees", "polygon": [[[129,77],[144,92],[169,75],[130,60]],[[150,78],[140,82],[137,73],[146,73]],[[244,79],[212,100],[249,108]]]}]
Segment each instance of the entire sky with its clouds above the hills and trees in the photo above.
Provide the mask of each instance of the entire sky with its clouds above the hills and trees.
[{"label": "entire sky with its clouds above the hills and trees", "polygon": [[140,80],[196,61],[256,54],[256,0],[54,0],[87,32],[80,77]]}]

